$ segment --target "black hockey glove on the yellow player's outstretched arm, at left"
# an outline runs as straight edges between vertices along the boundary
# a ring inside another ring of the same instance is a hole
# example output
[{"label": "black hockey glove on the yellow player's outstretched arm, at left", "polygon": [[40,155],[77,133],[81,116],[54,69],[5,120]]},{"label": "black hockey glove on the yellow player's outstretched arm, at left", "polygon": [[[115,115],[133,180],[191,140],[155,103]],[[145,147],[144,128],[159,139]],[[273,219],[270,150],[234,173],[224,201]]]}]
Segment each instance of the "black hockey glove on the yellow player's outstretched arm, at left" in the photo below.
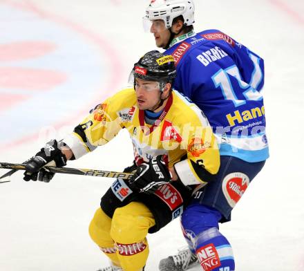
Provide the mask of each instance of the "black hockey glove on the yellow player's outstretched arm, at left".
[{"label": "black hockey glove on the yellow player's outstretched arm, at left", "polygon": [[55,173],[44,169],[43,167],[54,166],[64,167],[66,165],[66,156],[59,149],[59,145],[63,145],[63,142],[57,142],[57,140],[50,140],[46,143],[36,155],[30,160],[26,161],[26,172],[24,172],[23,180],[41,180],[48,183]]}]

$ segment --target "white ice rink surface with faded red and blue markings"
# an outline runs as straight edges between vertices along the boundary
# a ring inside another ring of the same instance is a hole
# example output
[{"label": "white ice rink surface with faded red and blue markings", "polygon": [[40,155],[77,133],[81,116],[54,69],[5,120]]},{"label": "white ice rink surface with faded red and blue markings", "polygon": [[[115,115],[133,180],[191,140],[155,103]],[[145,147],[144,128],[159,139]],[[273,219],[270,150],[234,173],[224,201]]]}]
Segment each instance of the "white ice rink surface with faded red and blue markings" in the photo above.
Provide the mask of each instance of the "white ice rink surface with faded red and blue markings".
[{"label": "white ice rink surface with faded red and blue markings", "polygon": [[[72,131],[127,82],[155,48],[144,34],[144,0],[0,0],[0,161],[23,162]],[[304,270],[304,1],[196,0],[195,29],[217,28],[265,59],[271,158],[220,225],[236,271]],[[301,158],[302,157],[302,158]],[[69,167],[121,171],[129,136]],[[0,174],[6,171],[0,169]],[[1,271],[95,271],[108,265],[88,224],[112,179],[57,174],[0,184]],[[146,271],[183,246],[179,221],[149,235]],[[198,271],[198,270],[197,270]]]}]

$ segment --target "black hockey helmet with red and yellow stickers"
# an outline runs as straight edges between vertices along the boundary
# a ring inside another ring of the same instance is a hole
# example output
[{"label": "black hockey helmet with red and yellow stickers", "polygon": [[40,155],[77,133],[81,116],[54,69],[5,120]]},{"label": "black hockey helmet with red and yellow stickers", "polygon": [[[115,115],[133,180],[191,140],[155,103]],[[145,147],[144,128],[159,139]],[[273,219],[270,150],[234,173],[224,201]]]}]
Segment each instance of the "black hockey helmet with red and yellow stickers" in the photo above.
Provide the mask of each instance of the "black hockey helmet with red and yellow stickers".
[{"label": "black hockey helmet with red and yellow stickers", "polygon": [[132,74],[135,78],[145,81],[171,83],[173,85],[176,77],[176,68],[172,55],[163,55],[158,50],[146,53],[134,64]]}]

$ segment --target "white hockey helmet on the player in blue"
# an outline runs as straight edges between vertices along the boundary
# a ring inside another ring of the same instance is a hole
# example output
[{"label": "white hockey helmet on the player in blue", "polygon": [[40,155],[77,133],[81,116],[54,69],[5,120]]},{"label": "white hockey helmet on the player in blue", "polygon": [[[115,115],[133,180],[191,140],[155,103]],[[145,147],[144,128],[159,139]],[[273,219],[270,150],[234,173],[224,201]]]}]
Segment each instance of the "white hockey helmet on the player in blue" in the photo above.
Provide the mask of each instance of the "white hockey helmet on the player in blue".
[{"label": "white hockey helmet on the player in blue", "polygon": [[184,24],[191,26],[194,23],[193,0],[151,0],[146,8],[146,19],[149,21],[163,20],[167,28],[171,28],[174,18],[182,15]]}]

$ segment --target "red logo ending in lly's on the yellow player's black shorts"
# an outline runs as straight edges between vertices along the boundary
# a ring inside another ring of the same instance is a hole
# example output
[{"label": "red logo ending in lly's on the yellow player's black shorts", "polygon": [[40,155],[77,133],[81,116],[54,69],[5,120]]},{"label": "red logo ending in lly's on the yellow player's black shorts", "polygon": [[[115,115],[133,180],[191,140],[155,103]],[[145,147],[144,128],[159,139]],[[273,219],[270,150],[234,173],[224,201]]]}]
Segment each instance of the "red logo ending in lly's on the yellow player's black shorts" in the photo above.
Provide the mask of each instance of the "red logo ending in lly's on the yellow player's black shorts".
[{"label": "red logo ending in lly's on the yellow player's black shorts", "polygon": [[171,211],[183,203],[180,192],[171,184],[162,185],[158,190],[155,191],[155,195],[167,203]]}]

